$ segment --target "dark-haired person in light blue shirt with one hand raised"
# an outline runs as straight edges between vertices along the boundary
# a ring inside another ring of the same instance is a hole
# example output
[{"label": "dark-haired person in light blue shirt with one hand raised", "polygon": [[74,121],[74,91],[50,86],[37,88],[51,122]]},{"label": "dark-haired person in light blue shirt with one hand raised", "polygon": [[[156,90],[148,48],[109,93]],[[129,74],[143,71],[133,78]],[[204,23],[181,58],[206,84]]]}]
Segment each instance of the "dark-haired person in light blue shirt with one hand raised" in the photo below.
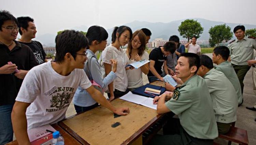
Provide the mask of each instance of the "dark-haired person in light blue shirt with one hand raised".
[{"label": "dark-haired person in light blue shirt with one hand raised", "polygon": [[[100,64],[95,53],[98,50],[103,51],[105,49],[108,32],[103,27],[91,26],[86,33],[86,38],[89,41],[89,47],[86,50],[88,59],[84,64],[84,71],[86,72],[90,81],[95,81],[102,90],[105,90],[108,88],[108,85],[116,78],[115,72],[117,62],[114,59],[111,59],[112,71],[103,78],[100,71]],[[101,92],[103,93],[103,91]],[[75,91],[73,103],[76,113],[88,111],[99,105],[82,87],[78,87]]]}]

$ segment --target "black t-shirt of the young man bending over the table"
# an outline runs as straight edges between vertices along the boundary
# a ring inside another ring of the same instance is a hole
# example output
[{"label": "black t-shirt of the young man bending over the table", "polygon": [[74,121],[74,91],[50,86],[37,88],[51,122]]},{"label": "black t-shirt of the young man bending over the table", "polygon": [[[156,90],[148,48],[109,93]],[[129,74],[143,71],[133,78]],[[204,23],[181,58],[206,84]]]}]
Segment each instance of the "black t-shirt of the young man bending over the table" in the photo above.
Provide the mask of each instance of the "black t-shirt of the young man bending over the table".
[{"label": "black t-shirt of the young man bending over the table", "polygon": [[[156,69],[159,75],[162,74],[162,65],[163,65],[163,62],[166,60],[166,58],[167,57],[163,55],[160,47],[154,48],[150,52],[149,60],[155,61],[154,68]],[[155,75],[151,71],[149,71],[147,76],[155,76]]]}]

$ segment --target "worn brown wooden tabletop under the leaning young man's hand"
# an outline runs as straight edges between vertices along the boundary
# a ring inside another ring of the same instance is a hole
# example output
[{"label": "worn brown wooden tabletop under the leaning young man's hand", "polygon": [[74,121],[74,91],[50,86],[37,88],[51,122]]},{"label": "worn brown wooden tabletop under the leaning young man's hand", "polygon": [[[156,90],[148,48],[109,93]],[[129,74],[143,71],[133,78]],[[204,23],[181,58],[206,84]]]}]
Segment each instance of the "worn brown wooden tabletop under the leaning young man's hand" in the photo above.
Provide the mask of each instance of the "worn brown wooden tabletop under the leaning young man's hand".
[{"label": "worn brown wooden tabletop under the leaning young man's hand", "polygon": [[[62,122],[89,144],[118,145],[138,139],[159,117],[156,110],[121,99],[111,103],[115,107],[129,107],[130,114],[114,118],[112,112],[99,106]],[[116,122],[120,125],[111,127]]]}]

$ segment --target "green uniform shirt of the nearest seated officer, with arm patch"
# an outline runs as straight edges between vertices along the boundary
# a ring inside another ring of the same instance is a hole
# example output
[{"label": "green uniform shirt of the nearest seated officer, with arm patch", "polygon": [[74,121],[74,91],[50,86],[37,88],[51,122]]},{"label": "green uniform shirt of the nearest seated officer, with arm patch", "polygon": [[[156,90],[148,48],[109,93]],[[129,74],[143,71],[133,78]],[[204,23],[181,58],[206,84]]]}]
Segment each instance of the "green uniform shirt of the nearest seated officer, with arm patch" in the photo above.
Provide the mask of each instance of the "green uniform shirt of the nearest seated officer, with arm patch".
[{"label": "green uniform shirt of the nearest seated officer, with arm patch", "polygon": [[179,95],[165,104],[173,113],[179,115],[184,130],[199,139],[218,137],[212,101],[204,79],[194,75],[175,90]]}]

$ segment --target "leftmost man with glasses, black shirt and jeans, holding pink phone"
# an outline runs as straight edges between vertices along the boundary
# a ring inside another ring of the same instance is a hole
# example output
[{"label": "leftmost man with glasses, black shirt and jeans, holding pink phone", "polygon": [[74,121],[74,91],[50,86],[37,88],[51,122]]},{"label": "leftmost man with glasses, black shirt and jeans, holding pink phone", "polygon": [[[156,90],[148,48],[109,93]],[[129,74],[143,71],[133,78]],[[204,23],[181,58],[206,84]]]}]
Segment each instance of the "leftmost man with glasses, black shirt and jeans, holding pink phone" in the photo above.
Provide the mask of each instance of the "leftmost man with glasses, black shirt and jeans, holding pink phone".
[{"label": "leftmost man with glasses, black shirt and jeans, holding pink phone", "polygon": [[0,145],[13,139],[15,98],[27,72],[38,65],[32,50],[15,41],[18,29],[17,19],[8,11],[0,11]]}]

